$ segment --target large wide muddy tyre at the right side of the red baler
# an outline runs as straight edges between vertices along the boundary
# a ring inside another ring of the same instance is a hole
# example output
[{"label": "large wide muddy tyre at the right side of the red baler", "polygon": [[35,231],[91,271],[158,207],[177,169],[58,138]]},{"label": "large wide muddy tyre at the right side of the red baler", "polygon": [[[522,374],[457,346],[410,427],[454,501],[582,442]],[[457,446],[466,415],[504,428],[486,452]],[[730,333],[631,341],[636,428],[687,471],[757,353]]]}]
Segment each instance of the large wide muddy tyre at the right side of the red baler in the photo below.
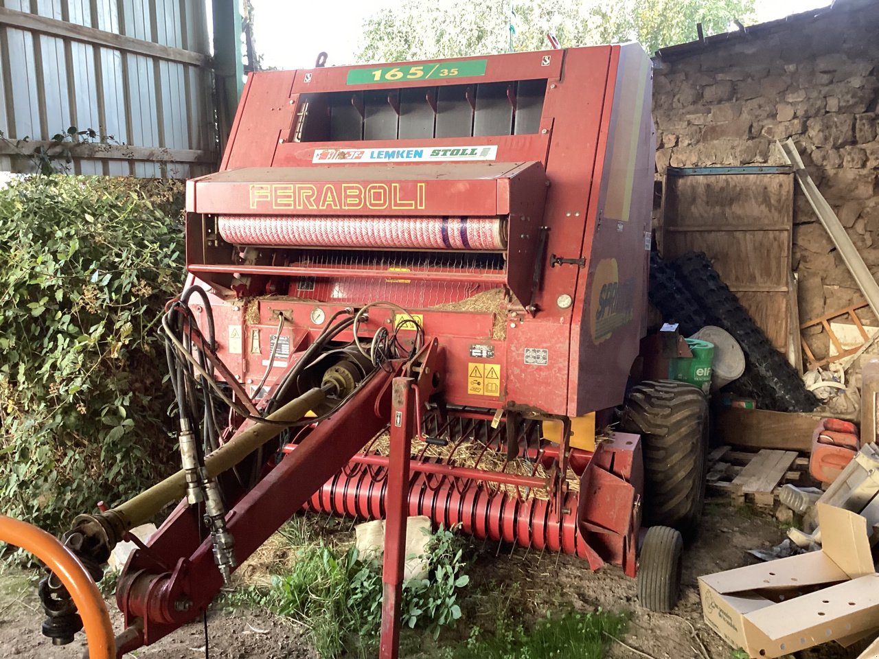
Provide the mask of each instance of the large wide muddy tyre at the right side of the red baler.
[{"label": "large wide muddy tyre at the right side of the red baler", "polygon": [[705,503],[705,396],[685,382],[643,382],[628,394],[622,429],[641,435],[644,524],[671,526],[692,539]]}]

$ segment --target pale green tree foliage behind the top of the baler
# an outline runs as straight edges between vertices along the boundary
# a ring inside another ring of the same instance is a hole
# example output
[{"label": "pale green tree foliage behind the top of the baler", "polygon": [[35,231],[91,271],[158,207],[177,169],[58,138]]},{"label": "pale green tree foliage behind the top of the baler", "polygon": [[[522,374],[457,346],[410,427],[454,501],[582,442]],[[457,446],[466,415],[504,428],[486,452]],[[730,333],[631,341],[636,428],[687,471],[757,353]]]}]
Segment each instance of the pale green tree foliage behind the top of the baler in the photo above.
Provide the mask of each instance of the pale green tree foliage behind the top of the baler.
[{"label": "pale green tree foliage behind the top of the baler", "polygon": [[[696,24],[720,33],[733,19],[753,17],[754,0],[515,0],[513,47],[548,47],[554,33],[563,47],[637,40],[650,53],[694,40]],[[364,25],[360,62],[505,53],[510,44],[510,0],[403,0]]]}]

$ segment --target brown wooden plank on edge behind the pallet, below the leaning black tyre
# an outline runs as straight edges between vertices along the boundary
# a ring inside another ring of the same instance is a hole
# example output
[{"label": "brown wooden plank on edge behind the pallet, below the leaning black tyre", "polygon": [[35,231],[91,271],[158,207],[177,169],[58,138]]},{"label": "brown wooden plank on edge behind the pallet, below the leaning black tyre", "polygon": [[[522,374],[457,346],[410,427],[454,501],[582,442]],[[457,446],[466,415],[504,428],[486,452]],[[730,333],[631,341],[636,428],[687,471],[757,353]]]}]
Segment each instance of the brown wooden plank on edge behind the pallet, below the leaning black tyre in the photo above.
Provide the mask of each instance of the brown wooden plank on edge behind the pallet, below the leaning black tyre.
[{"label": "brown wooden plank on edge behind the pallet, below the leaning black tyre", "polygon": [[744,448],[774,448],[809,453],[812,434],[824,416],[768,409],[721,408],[717,412],[717,439]]}]

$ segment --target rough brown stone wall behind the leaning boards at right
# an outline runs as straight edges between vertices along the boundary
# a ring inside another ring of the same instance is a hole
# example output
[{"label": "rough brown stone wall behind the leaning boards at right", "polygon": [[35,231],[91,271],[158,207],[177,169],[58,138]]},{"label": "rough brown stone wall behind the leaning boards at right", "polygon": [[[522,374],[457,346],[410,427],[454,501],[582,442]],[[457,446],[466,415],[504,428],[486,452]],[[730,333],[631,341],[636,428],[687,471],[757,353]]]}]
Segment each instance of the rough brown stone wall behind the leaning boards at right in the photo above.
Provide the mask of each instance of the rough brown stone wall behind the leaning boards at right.
[{"label": "rough brown stone wall behind the leaning boards at right", "polygon": [[[815,16],[676,47],[655,61],[657,170],[781,164],[792,137],[818,189],[879,275],[879,2],[837,0]],[[803,321],[863,295],[803,193],[795,192],[793,267]],[[865,321],[879,324],[875,317]],[[825,334],[807,337],[825,353]]]}]

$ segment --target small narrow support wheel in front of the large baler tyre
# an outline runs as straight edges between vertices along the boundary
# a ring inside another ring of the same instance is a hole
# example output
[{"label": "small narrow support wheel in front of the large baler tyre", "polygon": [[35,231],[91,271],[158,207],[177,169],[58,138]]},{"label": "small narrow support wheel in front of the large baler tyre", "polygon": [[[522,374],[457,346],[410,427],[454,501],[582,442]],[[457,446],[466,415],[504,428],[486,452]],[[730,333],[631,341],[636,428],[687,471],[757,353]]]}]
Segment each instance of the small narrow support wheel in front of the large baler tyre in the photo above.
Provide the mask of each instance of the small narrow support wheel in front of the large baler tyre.
[{"label": "small narrow support wheel in front of the large baler tyre", "polygon": [[678,603],[684,539],[670,526],[650,526],[638,560],[638,601],[650,611],[669,612]]}]

